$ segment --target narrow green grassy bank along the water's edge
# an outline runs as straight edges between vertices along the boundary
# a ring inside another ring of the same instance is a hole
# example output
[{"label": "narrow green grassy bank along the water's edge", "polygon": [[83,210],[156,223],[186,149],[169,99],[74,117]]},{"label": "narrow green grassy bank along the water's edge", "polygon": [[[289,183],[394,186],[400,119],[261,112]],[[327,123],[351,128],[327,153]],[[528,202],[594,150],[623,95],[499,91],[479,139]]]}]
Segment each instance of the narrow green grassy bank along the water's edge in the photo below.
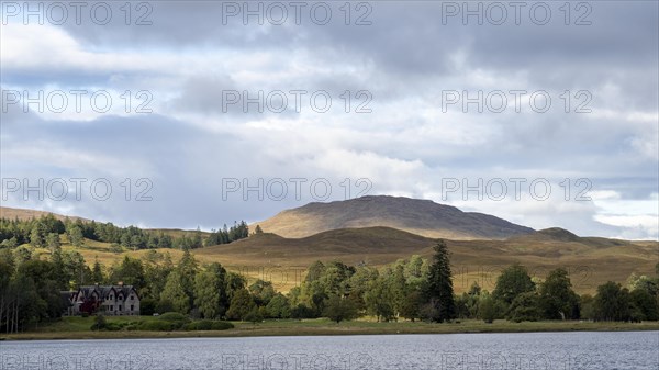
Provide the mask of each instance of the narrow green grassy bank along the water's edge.
[{"label": "narrow green grassy bank along the water's edge", "polygon": [[[108,322],[152,321],[143,317],[109,317]],[[250,336],[303,336],[303,335],[377,335],[377,334],[454,334],[454,333],[528,333],[528,332],[625,332],[659,330],[658,322],[646,323],[590,323],[590,322],[535,322],[511,323],[495,321],[462,321],[449,324],[428,323],[376,323],[353,321],[336,324],[328,319],[266,321],[259,324],[234,322],[235,328],[208,332],[92,332],[92,317],[65,317],[34,330],[21,334],[2,334],[9,340],[23,339],[120,339],[120,338],[187,338],[187,337],[250,337]]]}]

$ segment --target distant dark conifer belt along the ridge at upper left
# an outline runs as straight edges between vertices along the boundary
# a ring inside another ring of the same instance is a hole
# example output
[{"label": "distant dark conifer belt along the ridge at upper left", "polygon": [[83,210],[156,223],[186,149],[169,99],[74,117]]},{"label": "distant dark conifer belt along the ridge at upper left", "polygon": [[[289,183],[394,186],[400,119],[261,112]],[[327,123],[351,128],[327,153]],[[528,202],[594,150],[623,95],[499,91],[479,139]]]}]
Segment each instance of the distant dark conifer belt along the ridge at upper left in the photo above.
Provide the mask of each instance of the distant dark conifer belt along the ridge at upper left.
[{"label": "distant dark conifer belt along the ridge at upper left", "polygon": [[241,221],[230,228],[224,225],[222,229],[213,231],[209,236],[204,236],[198,228],[196,232],[172,237],[164,232],[144,231],[135,226],[119,227],[112,223],[71,221],[69,218],[60,221],[52,214],[25,221],[0,218],[1,247],[14,248],[22,244],[30,244],[34,247],[53,248],[55,244],[60,243],[60,235],[66,235],[71,245],[76,247],[81,247],[87,238],[111,243],[118,250],[122,247],[133,250],[194,249],[245,238],[249,235],[249,228],[244,221]]}]

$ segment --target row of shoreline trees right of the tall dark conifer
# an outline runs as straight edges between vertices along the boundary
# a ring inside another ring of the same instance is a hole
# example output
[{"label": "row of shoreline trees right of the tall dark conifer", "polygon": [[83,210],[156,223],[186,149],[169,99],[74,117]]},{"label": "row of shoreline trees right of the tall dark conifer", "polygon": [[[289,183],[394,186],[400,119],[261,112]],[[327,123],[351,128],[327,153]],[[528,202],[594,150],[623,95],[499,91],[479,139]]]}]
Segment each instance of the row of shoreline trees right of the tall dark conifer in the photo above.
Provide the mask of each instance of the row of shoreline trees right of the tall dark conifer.
[{"label": "row of shoreline trees right of the tall dark conifer", "polygon": [[521,265],[504,269],[490,293],[478,284],[456,298],[457,317],[498,318],[513,322],[540,319],[591,319],[640,322],[659,319],[659,264],[657,276],[632,274],[628,288],[608,281],[597,287],[595,296],[572,290],[567,270],[550,271],[536,282]]}]

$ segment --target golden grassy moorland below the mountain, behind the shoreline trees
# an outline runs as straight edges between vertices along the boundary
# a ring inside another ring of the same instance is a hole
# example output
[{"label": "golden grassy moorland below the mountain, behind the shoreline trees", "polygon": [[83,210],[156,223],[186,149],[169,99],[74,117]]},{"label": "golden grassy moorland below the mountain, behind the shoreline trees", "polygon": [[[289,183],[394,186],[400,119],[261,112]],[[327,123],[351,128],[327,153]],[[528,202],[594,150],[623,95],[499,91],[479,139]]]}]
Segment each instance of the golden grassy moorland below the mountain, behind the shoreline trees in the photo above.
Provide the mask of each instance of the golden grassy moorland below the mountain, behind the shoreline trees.
[{"label": "golden grassy moorland below the mountain, behind the shoreline trees", "polygon": [[[509,240],[447,240],[455,291],[467,291],[473,281],[491,291],[500,271],[520,262],[529,269],[532,277],[540,279],[555,268],[566,268],[578,293],[593,294],[597,285],[608,280],[624,284],[633,272],[654,274],[655,264],[659,261],[657,242],[566,237],[562,235],[566,233],[560,229],[551,234],[539,232]],[[144,259],[154,251],[169,254],[176,264],[182,255],[178,249],[114,251],[110,244],[94,240],[85,240],[83,247],[76,248],[65,236],[62,239],[64,250],[79,251],[90,266],[98,259],[110,267],[124,256]],[[250,282],[268,280],[278,291],[288,292],[300,284],[306,267],[315,260],[381,267],[414,254],[431,257],[434,243],[434,239],[393,228],[371,227],[337,229],[299,239],[260,234],[192,253],[201,265],[221,262]],[[47,249],[32,249],[43,258],[49,256]]]}]

